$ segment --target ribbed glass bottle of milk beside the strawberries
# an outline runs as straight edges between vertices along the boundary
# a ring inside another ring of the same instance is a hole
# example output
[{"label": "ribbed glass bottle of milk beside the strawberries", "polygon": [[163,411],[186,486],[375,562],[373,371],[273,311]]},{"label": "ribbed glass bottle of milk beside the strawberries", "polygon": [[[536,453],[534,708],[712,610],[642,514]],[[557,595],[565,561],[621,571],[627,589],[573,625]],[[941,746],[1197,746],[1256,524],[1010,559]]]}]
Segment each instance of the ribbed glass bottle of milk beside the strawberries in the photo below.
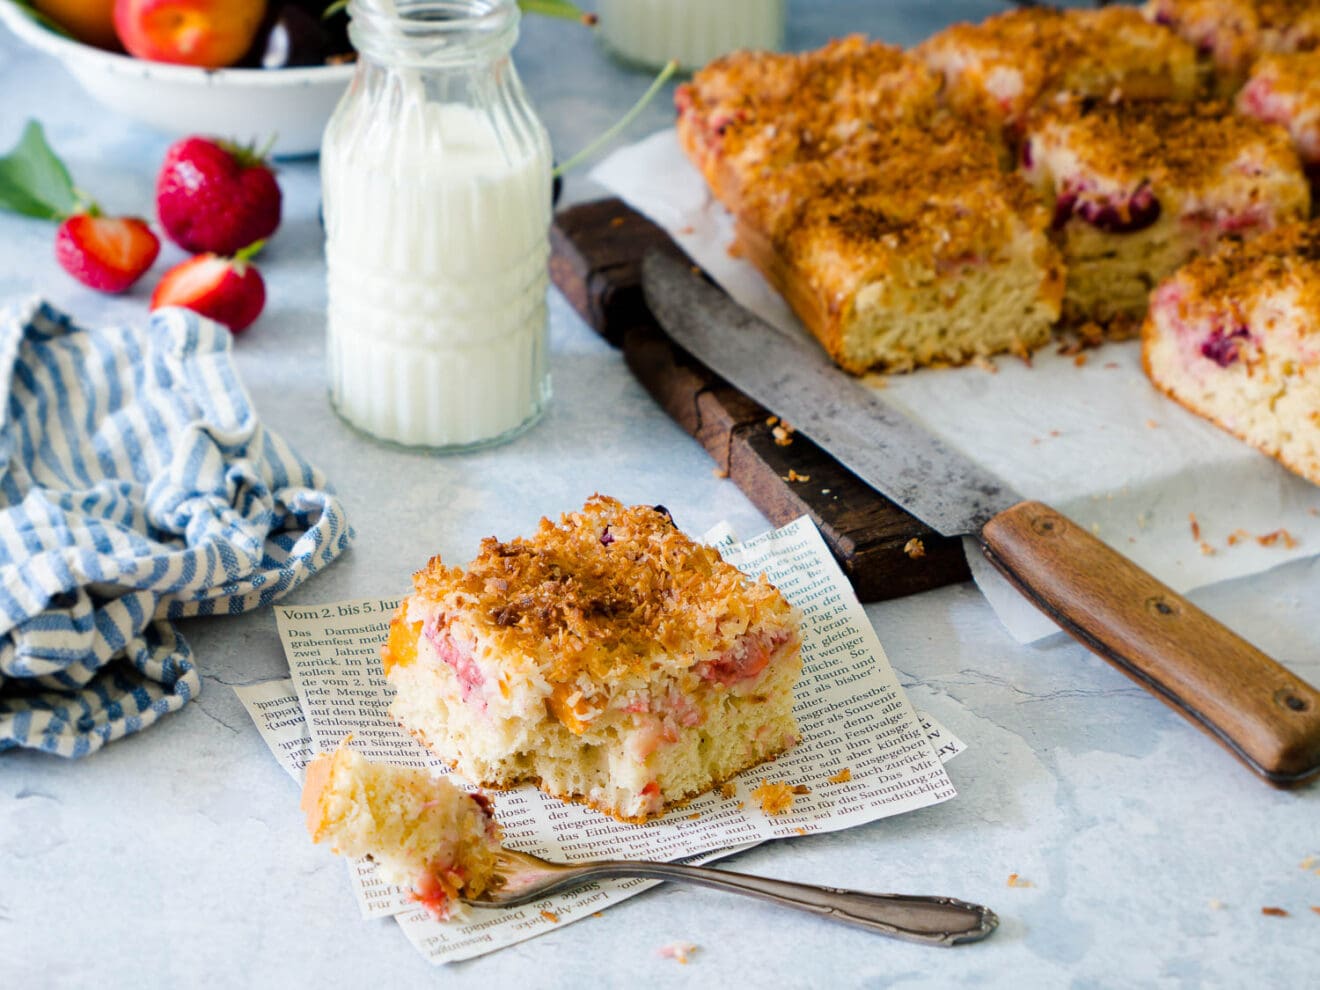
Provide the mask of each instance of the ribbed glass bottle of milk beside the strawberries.
[{"label": "ribbed glass bottle of milk beside the strawberries", "polygon": [[549,399],[550,148],[515,0],[351,0],[321,149],[330,399],[380,440],[496,444]]}]

